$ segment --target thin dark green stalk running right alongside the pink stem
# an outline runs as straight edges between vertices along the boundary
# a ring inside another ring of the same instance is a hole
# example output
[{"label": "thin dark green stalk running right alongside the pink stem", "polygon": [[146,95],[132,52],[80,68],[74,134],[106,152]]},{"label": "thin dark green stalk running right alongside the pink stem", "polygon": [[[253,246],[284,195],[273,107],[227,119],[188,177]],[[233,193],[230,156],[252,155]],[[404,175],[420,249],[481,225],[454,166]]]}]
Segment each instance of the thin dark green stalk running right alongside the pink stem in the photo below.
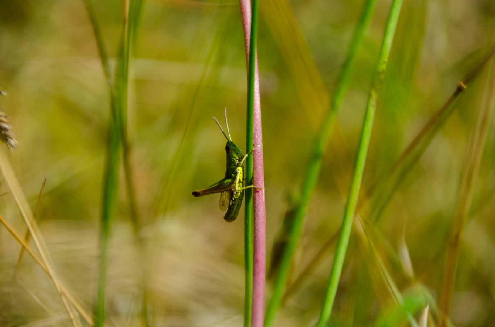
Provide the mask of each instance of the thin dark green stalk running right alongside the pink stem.
[{"label": "thin dark green stalk running right alongside the pink stem", "polygon": [[[249,38],[249,61],[247,73],[247,109],[246,109],[246,153],[253,149],[253,119],[254,119],[254,73],[256,60],[256,41],[258,35],[258,0],[251,4],[251,33]],[[246,185],[252,184],[252,156],[246,159]],[[246,190],[244,247],[246,266],[246,288],[244,305],[244,326],[251,323],[252,307],[252,190]]]}]

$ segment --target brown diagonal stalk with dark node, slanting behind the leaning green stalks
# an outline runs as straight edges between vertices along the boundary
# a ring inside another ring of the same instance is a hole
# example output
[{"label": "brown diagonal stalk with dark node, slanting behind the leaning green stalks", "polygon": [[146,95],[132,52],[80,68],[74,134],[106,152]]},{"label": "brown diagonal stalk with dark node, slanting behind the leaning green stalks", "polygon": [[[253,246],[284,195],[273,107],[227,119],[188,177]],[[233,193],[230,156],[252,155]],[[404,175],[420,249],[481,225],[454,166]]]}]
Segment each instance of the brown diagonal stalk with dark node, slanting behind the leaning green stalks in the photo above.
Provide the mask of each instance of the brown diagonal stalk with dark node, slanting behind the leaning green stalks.
[{"label": "brown diagonal stalk with dark node, slanting behind the leaning green stalks", "polygon": [[[394,164],[394,168],[392,169],[392,171],[387,176],[381,178],[377,183],[374,183],[367,189],[367,191],[365,192],[365,196],[359,199],[356,205],[356,211],[359,211],[359,209],[374,195],[375,190],[378,189],[377,187],[378,184],[383,185],[393,180],[395,183],[395,188],[389,190],[388,195],[384,197],[385,200],[381,204],[381,209],[376,211],[376,212],[383,212],[383,209],[385,209],[386,205],[388,204],[388,201],[390,201],[390,199],[392,198],[395,190],[400,185],[400,182],[403,180],[403,178],[405,178],[405,176],[407,176],[414,163],[416,163],[419,160],[419,158],[426,150],[426,148],[428,147],[428,145],[430,144],[431,140],[436,135],[440,127],[446,122],[446,120],[452,114],[453,109],[455,108],[454,106],[455,100],[463,93],[463,91],[475,79],[475,77],[478,76],[481,69],[488,62],[488,60],[493,57],[494,54],[495,54],[495,46],[489,52],[489,54],[483,59],[483,61],[478,66],[476,66],[472,71],[470,71],[466,75],[466,77],[462,80],[462,82],[459,82],[454,92],[452,93],[452,95],[450,95],[450,97],[447,99],[444,105],[442,105],[442,107],[435,114],[432,115],[432,117],[423,126],[423,128],[419,131],[416,137],[411,141],[411,143],[409,143],[406,149],[402,152],[399,159],[397,159],[396,163]],[[397,171],[400,171],[400,173],[397,174]],[[397,177],[397,175],[400,178]],[[375,213],[374,216],[375,216],[374,220],[377,220],[379,214]],[[333,245],[335,244],[336,237],[340,233],[341,233],[341,229],[337,230],[328,239],[327,243],[325,243],[325,245],[323,245],[322,248],[316,253],[316,255],[309,261],[308,265],[306,266],[306,268],[303,269],[302,273],[299,276],[297,276],[296,281],[293,283],[293,285],[288,287],[288,292],[286,295],[284,295],[284,297],[290,296],[290,294],[293,293],[297,289],[297,287],[304,282],[304,280],[310,274],[310,272],[316,268],[319,262],[321,262],[323,256],[325,256],[328,253],[328,251],[330,251],[330,249],[333,247]]]}]

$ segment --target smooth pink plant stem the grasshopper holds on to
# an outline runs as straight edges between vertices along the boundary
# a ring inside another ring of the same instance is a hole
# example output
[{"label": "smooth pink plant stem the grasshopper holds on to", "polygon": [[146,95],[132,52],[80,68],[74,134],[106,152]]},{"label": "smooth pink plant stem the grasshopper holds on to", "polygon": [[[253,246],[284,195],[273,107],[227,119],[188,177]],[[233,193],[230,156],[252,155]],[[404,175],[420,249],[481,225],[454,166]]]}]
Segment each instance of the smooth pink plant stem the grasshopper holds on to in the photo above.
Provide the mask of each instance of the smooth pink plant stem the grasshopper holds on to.
[{"label": "smooth pink plant stem the grasshopper holds on to", "polygon": [[[249,61],[249,37],[251,31],[251,3],[239,0],[244,27],[246,46],[246,66]],[[252,271],[252,327],[263,327],[265,314],[265,266],[266,266],[266,212],[265,212],[265,176],[263,170],[263,135],[261,132],[261,102],[259,97],[258,54],[256,53],[254,74],[254,120],[253,120],[253,189],[254,200],[254,239]]]}]

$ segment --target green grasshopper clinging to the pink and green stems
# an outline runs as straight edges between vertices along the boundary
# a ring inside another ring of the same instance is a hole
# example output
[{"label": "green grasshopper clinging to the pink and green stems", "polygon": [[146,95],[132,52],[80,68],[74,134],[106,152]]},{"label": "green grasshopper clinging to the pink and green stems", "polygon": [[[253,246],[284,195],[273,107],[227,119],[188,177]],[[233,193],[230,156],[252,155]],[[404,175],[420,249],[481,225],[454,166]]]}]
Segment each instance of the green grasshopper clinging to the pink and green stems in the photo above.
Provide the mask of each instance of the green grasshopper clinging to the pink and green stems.
[{"label": "green grasshopper clinging to the pink and green stems", "polygon": [[253,151],[249,151],[246,155],[243,154],[241,149],[232,142],[229,131],[229,123],[227,123],[227,108],[225,108],[225,124],[227,125],[227,132],[229,137],[223,131],[222,126],[215,117],[212,117],[217,123],[218,127],[222,131],[223,135],[227,139],[227,145],[225,146],[225,152],[227,153],[227,171],[225,171],[225,177],[215,184],[208,186],[205,189],[193,191],[195,197],[202,197],[203,195],[220,193],[220,202],[218,207],[220,210],[227,213],[223,217],[225,221],[232,222],[236,220],[243,204],[244,190],[249,188],[257,188],[254,185],[244,186],[244,161],[247,156]]}]

